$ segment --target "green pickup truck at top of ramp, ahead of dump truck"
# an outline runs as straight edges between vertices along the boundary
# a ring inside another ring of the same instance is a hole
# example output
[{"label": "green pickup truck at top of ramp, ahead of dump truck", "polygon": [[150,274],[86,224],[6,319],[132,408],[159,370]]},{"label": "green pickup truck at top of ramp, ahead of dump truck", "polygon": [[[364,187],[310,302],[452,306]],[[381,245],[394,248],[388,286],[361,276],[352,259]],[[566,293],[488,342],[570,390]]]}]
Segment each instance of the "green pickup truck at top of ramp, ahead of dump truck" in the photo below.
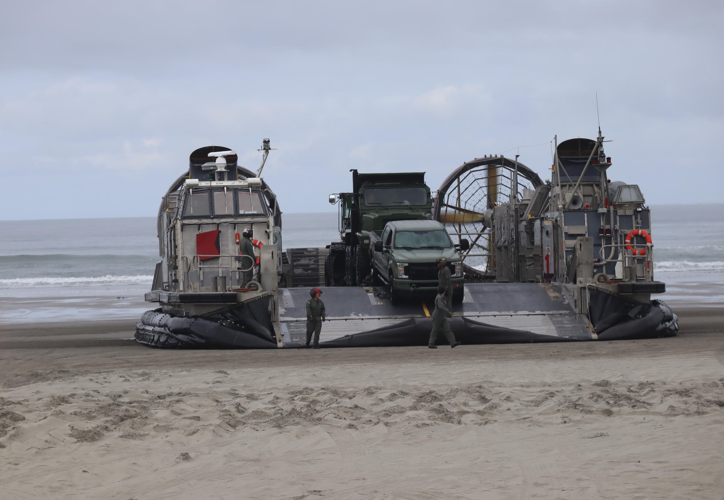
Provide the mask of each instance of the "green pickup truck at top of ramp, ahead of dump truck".
[{"label": "green pickup truck at top of ramp, ahead of dump truck", "polygon": [[445,257],[452,274],[452,301],[463,301],[463,264],[459,250],[468,250],[462,240],[454,245],[445,226],[438,221],[390,221],[382,232],[370,232],[372,274],[390,286],[393,303],[413,295],[437,293],[436,259]]}]

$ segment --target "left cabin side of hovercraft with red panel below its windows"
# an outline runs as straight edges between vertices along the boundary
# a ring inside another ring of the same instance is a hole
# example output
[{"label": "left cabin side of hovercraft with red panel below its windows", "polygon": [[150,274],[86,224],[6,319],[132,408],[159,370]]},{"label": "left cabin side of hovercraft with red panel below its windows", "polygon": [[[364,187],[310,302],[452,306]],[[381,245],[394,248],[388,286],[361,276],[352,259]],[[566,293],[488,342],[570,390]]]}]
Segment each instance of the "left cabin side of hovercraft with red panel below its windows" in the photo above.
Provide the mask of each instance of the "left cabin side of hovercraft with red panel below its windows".
[{"label": "left cabin side of hovercraft with red panel below its windows", "polygon": [[[269,140],[264,140],[264,160],[256,172],[239,166],[235,151],[228,148],[206,146],[191,153],[188,171],[161,200],[161,260],[146,294],[148,302],[159,302],[160,307],[138,323],[138,342],[167,347],[164,344],[176,344],[177,339],[164,332],[161,323],[172,318],[217,319],[219,311],[231,311],[241,316],[230,321],[246,321],[264,340],[277,343],[282,212],[260,177],[270,149]],[[253,233],[253,257],[240,254],[245,228]],[[245,283],[248,271],[253,271],[253,279]]]}]

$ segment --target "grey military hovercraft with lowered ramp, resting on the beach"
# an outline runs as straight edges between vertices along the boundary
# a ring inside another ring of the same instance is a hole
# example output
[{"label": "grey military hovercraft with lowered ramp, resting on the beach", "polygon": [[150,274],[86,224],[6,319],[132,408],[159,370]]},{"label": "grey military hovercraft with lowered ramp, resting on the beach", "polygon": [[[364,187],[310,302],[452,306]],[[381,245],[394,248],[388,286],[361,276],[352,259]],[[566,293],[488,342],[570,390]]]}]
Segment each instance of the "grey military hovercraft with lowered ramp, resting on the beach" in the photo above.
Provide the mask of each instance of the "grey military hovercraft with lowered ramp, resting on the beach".
[{"label": "grey military hovercraft with lowered ramp, resting on the beach", "polygon": [[[542,182],[517,157],[502,156],[475,158],[445,179],[424,219],[447,229],[450,250],[441,245],[441,255],[459,251],[466,282],[450,327],[463,344],[650,338],[678,331],[670,308],[652,300],[665,285],[653,278],[649,208],[638,186],[607,179],[611,163],[603,142],[599,133],[597,140],[557,145],[552,182]],[[268,140],[260,151],[265,161]],[[226,163],[207,161],[214,154]],[[361,245],[355,235],[342,232],[342,242],[327,248],[282,252],[276,196],[261,179],[261,168],[254,173],[236,161],[225,148],[196,150],[188,173],[164,196],[161,262],[146,294],[161,307],[144,313],[138,342],[171,348],[301,347],[308,289],[320,287],[327,305],[321,347],[427,344],[432,297],[411,289],[410,300],[393,305],[389,284],[373,281],[370,240]],[[400,175],[418,176],[417,185],[424,184],[421,174]],[[355,172],[355,179],[363,178]],[[359,196],[344,199],[340,232],[345,218],[349,222],[361,213],[355,205]],[[330,199],[337,200],[340,195]],[[398,207],[410,206],[397,201]],[[389,208],[381,212],[388,219],[404,212]],[[366,216],[374,219],[374,213]],[[256,265],[238,255],[235,234],[246,226],[257,241]],[[353,248],[345,250],[345,242]],[[428,256],[435,251],[424,248]],[[409,253],[406,248],[400,255]],[[332,257],[337,263],[330,263]],[[419,267],[419,260],[411,262]],[[255,279],[243,284],[240,276],[250,267]],[[397,258],[391,271],[405,274],[407,268]],[[400,287],[413,286],[390,277]],[[350,281],[361,286],[324,286]]]}]

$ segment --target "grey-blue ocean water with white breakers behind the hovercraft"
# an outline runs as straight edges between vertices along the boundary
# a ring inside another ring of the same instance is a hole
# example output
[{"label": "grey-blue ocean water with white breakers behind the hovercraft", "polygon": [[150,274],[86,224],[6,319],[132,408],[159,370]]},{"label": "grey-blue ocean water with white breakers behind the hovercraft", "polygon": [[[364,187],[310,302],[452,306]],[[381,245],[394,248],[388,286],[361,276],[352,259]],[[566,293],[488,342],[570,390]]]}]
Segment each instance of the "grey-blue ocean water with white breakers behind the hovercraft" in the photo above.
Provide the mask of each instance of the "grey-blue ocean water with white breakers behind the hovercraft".
[{"label": "grey-blue ocean water with white breakers behind the hovercraft", "polygon": [[[724,302],[724,203],[652,206],[654,277],[665,300]],[[337,241],[336,213],[290,213],[285,248]],[[156,218],[0,221],[0,297],[148,291],[159,260]]]}]

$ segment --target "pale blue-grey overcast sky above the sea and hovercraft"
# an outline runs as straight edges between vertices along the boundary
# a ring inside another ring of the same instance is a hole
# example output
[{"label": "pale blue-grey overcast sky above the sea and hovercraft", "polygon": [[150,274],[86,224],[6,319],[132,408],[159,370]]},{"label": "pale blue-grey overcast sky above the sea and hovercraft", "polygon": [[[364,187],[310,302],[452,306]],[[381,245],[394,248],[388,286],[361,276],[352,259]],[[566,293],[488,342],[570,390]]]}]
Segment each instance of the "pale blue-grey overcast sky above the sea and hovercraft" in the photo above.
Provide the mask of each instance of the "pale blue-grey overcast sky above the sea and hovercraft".
[{"label": "pale blue-grey overcast sky above the sea and hovercraft", "polygon": [[546,179],[596,93],[610,178],[722,200],[721,1],[0,5],[0,219],[154,216],[191,151],[256,169],[264,137],[285,212],[334,210],[353,168],[436,190],[519,151]]}]

